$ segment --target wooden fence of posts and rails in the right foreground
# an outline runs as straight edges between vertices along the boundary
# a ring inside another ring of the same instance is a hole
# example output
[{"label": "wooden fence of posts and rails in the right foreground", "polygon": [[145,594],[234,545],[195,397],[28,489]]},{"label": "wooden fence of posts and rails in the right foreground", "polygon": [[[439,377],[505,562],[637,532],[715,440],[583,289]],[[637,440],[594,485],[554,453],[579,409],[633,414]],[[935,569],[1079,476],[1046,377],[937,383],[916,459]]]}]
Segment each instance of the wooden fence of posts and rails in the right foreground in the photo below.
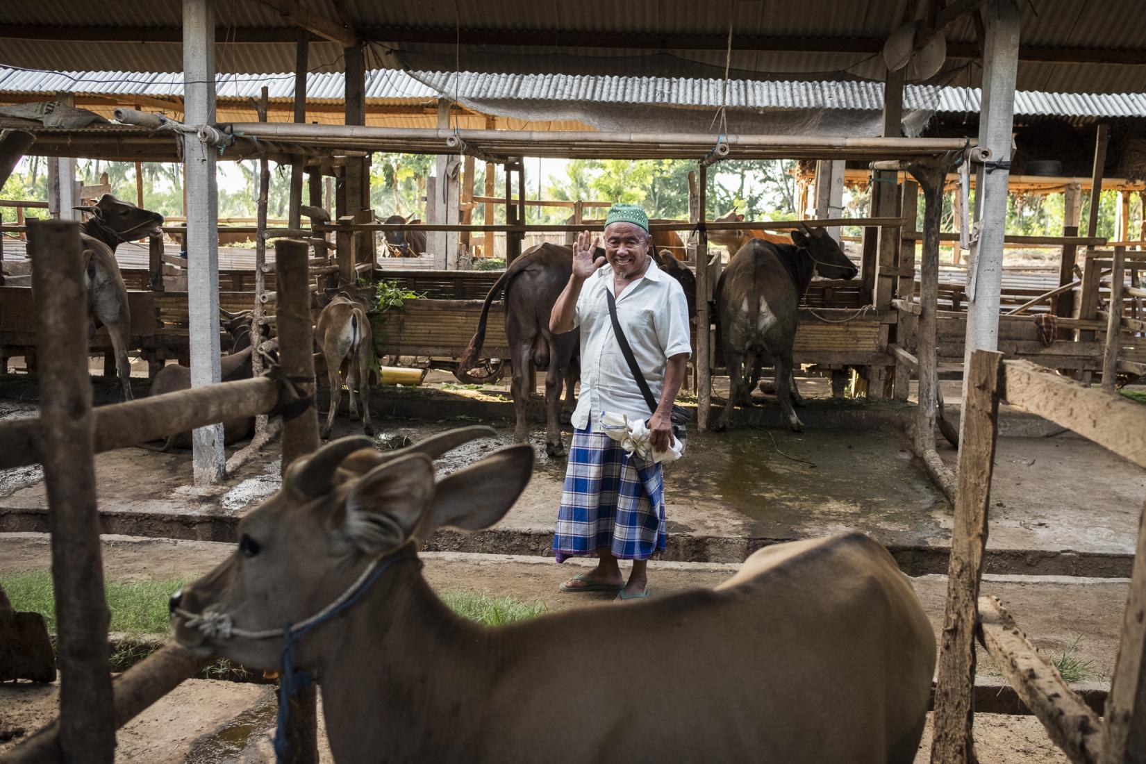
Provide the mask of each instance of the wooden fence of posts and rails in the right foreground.
[{"label": "wooden fence of posts and rails in the right foreground", "polygon": [[1029,361],[1004,362],[998,353],[975,352],[970,373],[932,763],[974,761],[976,629],[1004,677],[1072,762],[1146,762],[1146,517],[1139,519],[1130,594],[1102,719],[1037,653],[997,600],[979,597],[999,400],[1068,427],[1140,466],[1146,466],[1146,409]]}]

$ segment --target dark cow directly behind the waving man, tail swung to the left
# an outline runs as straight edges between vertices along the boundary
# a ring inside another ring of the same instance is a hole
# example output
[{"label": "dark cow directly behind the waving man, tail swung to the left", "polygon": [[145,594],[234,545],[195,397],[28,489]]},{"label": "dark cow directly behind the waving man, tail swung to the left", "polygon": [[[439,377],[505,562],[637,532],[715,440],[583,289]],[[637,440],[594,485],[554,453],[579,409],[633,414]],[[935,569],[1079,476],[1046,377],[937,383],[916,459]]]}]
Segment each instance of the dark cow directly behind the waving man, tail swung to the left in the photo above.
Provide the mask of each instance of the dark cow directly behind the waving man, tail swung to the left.
[{"label": "dark cow directly behind the waving man, tail swung to the left", "polygon": [[[604,250],[597,253],[604,257]],[[673,257],[662,257],[652,250],[657,265],[684,288],[689,301],[689,315],[696,315],[696,276]],[[562,456],[560,402],[562,389],[567,386],[566,403],[573,402],[573,384],[578,375],[580,334],[576,330],[554,336],[549,331],[549,314],[557,297],[568,283],[573,273],[573,249],[559,244],[539,244],[513,261],[501,278],[486,294],[481,308],[478,330],[470,340],[462,357],[461,371],[472,369],[481,357],[481,344],[486,337],[486,320],[489,305],[505,292],[505,338],[509,340],[510,363],[513,371],[511,387],[517,426],[513,436],[518,442],[529,441],[526,424],[526,405],[532,389],[527,389],[529,362],[539,371],[545,371],[545,452]]]}]

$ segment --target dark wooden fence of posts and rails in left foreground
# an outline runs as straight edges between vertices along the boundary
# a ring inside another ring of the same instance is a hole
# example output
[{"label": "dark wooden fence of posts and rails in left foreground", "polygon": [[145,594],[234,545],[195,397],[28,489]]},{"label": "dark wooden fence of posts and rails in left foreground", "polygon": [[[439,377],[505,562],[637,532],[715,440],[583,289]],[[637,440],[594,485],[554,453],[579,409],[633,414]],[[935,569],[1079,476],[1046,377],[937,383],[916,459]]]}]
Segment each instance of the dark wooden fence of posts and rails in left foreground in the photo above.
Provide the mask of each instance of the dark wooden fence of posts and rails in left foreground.
[{"label": "dark wooden fence of posts and rails in left foreground", "polygon": [[[301,407],[284,416],[283,468],[314,450],[319,430],[313,402],[314,337],[307,289],[307,247],[301,242],[289,241],[276,245],[282,294],[278,341],[282,373],[291,380],[289,396],[282,392],[286,389],[284,386],[264,377],[115,403],[92,411],[79,227],[55,221],[41,225],[45,228],[33,226],[33,246],[39,244],[38,231],[49,230],[49,227],[66,231],[73,242],[70,250],[60,246],[55,238],[46,242],[33,267],[37,285],[42,293],[52,296],[40,304],[45,320],[41,342],[53,348],[53,353],[44,354],[40,372],[45,416],[33,420],[31,426],[14,427],[25,423],[3,423],[0,441],[6,444],[2,451],[6,458],[13,451],[24,450],[28,455],[17,459],[19,464],[29,463],[33,456],[46,460],[61,651],[61,711],[55,722],[8,751],[5,761],[13,764],[110,763],[115,753],[115,731],[193,676],[207,659],[168,644],[128,669],[112,685],[93,454],[97,446],[126,446],[201,424],[266,412],[281,399]],[[37,434],[34,430],[38,428],[44,430],[44,434]],[[18,441],[23,448],[8,448],[17,443],[9,438],[23,439]],[[79,471],[77,464],[81,467]],[[89,480],[76,480],[74,475],[84,471],[89,473]],[[60,493],[61,487],[64,493]],[[289,734],[295,749],[290,761],[316,761],[315,728],[312,688],[309,694],[292,701]]]}]

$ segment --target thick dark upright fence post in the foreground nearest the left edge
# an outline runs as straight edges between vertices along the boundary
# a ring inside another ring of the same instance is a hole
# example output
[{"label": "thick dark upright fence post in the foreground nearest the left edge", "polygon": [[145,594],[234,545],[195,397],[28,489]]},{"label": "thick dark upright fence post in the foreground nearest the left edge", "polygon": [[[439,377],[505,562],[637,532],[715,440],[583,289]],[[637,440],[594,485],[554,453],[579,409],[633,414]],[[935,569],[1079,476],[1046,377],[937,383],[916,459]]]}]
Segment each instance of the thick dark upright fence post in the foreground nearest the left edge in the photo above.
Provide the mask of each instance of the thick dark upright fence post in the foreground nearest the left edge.
[{"label": "thick dark upright fence post in the foreground nearest the left edge", "polygon": [[30,227],[39,321],[44,474],[52,530],[64,761],[111,762],[116,727],[92,447],[92,381],[79,226]]}]

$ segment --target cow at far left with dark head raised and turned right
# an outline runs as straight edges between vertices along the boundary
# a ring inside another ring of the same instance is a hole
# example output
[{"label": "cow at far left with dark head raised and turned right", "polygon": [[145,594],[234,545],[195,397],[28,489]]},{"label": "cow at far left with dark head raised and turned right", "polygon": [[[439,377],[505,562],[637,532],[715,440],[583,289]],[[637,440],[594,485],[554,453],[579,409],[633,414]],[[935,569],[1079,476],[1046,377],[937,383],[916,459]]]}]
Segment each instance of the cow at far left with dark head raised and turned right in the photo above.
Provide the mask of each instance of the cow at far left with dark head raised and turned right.
[{"label": "cow at far left with dark head raised and turned right", "polygon": [[116,246],[150,234],[163,225],[163,215],[120,202],[110,194],[89,207],[76,207],[88,213],[80,223],[84,245],[84,286],[87,290],[88,339],[100,325],[108,328],[116,354],[116,375],[123,400],[132,400],[132,367],[127,361],[127,342],[132,317],[127,305],[127,286],[116,262]]}]

